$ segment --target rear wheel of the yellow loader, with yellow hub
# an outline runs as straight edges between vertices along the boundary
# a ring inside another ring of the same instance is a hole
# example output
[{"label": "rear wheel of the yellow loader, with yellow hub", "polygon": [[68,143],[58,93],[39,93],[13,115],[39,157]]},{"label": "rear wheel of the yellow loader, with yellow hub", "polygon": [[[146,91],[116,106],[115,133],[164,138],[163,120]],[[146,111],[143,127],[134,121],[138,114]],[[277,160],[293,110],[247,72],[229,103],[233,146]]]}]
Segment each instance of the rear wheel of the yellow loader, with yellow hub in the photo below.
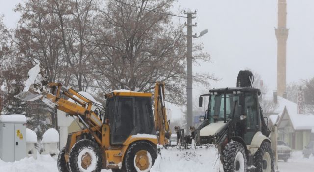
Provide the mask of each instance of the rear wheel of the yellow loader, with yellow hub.
[{"label": "rear wheel of the yellow loader, with yellow hub", "polygon": [[124,157],[122,171],[149,172],[156,158],[156,145],[144,141],[133,143]]}]

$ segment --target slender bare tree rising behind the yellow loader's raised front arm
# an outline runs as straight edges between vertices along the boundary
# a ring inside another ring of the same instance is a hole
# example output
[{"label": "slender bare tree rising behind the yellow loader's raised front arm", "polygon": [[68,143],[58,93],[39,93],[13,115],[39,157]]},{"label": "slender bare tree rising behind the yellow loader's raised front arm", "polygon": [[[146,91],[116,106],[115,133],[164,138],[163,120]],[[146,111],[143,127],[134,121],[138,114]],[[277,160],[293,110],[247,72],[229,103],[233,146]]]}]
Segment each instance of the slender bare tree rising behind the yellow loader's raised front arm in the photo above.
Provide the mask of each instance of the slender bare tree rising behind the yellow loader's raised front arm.
[{"label": "slender bare tree rising behind the yellow loader's raised front arm", "polygon": [[92,78],[88,76],[92,65],[88,59],[94,55],[95,47],[89,45],[90,28],[95,27],[96,0],[52,0],[54,13],[59,19],[63,55],[68,70],[73,74],[72,86],[86,90]]}]

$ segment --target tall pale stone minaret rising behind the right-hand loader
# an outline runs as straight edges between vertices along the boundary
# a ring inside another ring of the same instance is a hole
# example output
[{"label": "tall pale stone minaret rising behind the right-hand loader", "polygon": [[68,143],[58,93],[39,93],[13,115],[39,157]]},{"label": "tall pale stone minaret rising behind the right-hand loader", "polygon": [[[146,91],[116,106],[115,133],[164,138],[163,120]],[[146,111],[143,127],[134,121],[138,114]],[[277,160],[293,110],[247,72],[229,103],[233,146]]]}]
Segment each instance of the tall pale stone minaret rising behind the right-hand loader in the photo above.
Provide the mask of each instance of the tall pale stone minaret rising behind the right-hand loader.
[{"label": "tall pale stone minaret rising behind the right-hand loader", "polygon": [[278,28],[275,29],[277,38],[277,92],[283,96],[286,92],[286,48],[289,29],[287,23],[287,2],[278,0]]}]

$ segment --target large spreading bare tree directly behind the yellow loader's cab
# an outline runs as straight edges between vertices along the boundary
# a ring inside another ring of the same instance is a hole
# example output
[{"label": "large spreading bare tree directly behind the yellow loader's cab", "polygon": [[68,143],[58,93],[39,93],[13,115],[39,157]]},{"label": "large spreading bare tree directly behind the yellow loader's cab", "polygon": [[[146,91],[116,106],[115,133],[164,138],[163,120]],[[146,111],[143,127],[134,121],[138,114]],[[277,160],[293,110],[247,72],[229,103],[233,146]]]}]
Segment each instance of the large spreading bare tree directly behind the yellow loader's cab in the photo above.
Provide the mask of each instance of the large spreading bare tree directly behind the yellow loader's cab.
[{"label": "large spreading bare tree directly behind the yellow loader's cab", "polygon": [[[186,87],[186,39],[183,26],[171,22],[174,0],[109,0],[97,19],[93,56],[98,88],[152,91],[156,81],[166,82],[167,99],[184,103]],[[209,60],[195,45],[194,60]],[[97,65],[96,65],[97,64]],[[196,75],[197,83],[209,84],[211,75]]]}]

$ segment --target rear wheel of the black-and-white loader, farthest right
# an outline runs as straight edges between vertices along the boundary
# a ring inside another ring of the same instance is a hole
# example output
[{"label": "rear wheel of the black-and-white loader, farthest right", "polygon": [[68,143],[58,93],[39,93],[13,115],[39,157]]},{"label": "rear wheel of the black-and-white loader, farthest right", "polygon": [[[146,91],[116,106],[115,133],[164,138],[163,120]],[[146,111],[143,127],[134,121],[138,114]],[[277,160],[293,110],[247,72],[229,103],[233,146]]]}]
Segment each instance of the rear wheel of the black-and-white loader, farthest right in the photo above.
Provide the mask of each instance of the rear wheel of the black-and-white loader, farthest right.
[{"label": "rear wheel of the black-and-white loader, farthest right", "polygon": [[262,142],[260,148],[254,154],[255,172],[274,172],[274,156],[270,143]]}]

